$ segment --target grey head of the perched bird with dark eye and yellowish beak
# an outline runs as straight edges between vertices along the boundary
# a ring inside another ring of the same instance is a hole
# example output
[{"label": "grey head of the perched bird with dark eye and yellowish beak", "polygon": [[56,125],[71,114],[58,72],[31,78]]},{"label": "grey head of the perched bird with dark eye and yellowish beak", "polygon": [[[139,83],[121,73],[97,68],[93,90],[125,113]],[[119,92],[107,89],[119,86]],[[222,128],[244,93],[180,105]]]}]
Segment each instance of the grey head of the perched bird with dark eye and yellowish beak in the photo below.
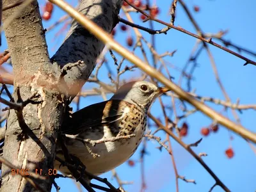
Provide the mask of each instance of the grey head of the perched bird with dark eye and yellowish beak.
[{"label": "grey head of the perched bird with dark eye and yellowish beak", "polygon": [[121,86],[111,99],[125,100],[147,110],[157,97],[168,91],[147,81],[131,81]]}]

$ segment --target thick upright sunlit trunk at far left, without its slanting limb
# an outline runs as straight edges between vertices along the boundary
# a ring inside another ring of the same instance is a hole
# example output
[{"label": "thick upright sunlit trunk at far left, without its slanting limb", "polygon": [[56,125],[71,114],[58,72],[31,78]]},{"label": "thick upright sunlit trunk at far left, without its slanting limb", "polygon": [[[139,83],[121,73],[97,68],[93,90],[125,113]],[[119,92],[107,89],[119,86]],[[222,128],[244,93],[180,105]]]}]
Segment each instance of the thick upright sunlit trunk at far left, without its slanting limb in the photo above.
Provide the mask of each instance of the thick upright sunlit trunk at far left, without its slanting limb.
[{"label": "thick upright sunlit trunk at far left, without its slanting limb", "polygon": [[[17,2],[7,0],[4,1],[3,6]],[[29,99],[33,92],[38,92],[38,99],[42,101],[40,104],[27,104],[20,113],[10,110],[6,124],[3,157],[11,163],[15,162],[17,168],[28,168],[31,172],[35,168],[40,168],[46,173],[46,170],[53,168],[55,131],[60,122],[55,117],[60,109],[58,106],[61,104],[57,102],[56,97],[52,97],[51,90],[44,90],[42,86],[42,80],[49,79],[52,70],[37,2],[24,1],[24,4],[4,11],[3,26],[8,49],[12,54],[15,102],[20,99]],[[18,86],[20,95],[17,94]],[[51,114],[50,118],[49,114]],[[58,114],[58,116],[61,115]],[[26,125],[29,131],[25,136],[22,136],[21,126],[23,125]],[[10,168],[4,164],[1,177],[1,191],[36,190],[28,180],[13,177]],[[47,191],[51,189],[52,180],[49,177],[38,179],[37,182],[40,188]]]}]

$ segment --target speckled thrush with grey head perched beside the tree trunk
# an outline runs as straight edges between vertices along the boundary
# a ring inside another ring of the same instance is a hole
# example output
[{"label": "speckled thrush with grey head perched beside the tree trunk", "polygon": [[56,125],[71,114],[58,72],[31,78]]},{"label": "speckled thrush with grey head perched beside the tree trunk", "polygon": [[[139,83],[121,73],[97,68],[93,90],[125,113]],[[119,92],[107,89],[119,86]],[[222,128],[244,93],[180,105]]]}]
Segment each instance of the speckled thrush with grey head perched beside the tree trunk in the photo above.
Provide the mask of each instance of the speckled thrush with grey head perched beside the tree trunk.
[{"label": "speckled thrush with grey head perched beside the tree trunk", "polygon": [[[93,175],[116,168],[134,154],[145,134],[148,109],[157,97],[168,91],[147,81],[131,81],[120,86],[111,99],[72,113],[68,123],[61,127],[62,134],[72,136],[65,137],[68,153],[79,158]],[[129,139],[107,141],[94,147],[76,139],[108,140],[131,134],[134,136]],[[57,148],[56,156],[64,161],[60,144]],[[58,161],[54,168],[70,174],[67,166],[61,166]]]}]

